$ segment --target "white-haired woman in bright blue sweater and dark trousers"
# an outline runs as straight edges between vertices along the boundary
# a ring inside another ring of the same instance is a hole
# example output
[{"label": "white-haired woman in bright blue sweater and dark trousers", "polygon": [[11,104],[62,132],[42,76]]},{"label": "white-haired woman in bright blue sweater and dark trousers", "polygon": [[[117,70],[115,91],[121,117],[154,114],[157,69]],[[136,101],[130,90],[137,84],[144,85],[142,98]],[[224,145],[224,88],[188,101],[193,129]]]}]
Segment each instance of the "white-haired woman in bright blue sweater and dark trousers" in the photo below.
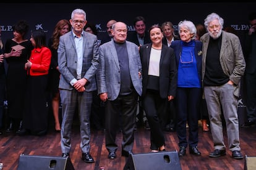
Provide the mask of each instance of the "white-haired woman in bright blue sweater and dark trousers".
[{"label": "white-haired woman in bright blue sweater and dark trousers", "polygon": [[[195,41],[197,29],[189,20],[179,22],[181,40],[173,41],[171,47],[176,55],[177,65],[177,137],[179,139],[179,156],[189,153],[200,156],[198,151],[198,113],[202,99],[202,42]],[[186,122],[189,124],[187,140]]]}]

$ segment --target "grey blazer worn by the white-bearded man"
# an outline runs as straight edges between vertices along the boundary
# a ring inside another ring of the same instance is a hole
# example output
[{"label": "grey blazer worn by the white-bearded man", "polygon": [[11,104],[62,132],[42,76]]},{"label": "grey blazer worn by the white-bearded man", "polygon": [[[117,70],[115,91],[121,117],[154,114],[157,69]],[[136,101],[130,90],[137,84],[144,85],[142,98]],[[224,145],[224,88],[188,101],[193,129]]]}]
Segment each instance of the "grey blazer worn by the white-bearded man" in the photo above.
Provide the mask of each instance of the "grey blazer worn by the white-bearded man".
[{"label": "grey blazer worn by the white-bearded man", "polygon": [[[205,76],[205,60],[209,39],[209,33],[204,34],[200,39],[203,42],[202,78]],[[240,80],[245,71],[245,60],[240,40],[235,34],[222,31],[220,63],[223,72],[229,76],[229,79],[233,81],[234,86],[236,86],[234,95],[239,97]]]}]

